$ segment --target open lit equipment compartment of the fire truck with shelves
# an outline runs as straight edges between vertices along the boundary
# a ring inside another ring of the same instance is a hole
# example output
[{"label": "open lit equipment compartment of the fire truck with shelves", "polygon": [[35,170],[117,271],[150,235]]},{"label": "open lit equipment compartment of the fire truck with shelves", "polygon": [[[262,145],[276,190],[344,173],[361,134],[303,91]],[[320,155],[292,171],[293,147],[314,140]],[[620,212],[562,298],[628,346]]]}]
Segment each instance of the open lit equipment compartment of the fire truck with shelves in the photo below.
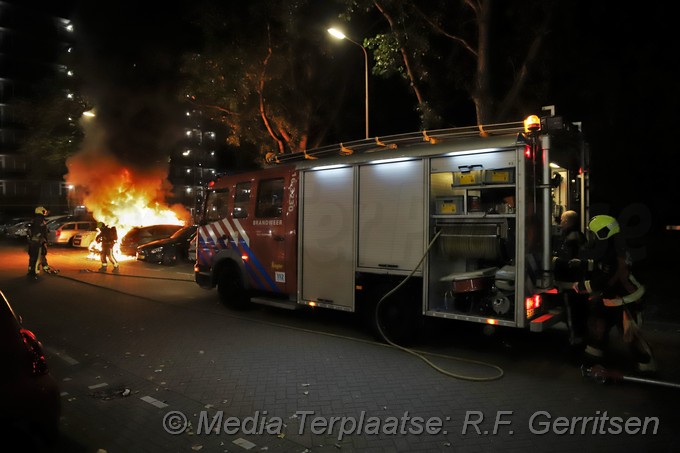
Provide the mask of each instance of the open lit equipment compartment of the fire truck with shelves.
[{"label": "open lit equipment compartment of the fire truck with shelves", "polygon": [[[430,164],[428,316],[523,324],[524,145],[450,153]],[[431,233],[430,240],[434,233]]]}]

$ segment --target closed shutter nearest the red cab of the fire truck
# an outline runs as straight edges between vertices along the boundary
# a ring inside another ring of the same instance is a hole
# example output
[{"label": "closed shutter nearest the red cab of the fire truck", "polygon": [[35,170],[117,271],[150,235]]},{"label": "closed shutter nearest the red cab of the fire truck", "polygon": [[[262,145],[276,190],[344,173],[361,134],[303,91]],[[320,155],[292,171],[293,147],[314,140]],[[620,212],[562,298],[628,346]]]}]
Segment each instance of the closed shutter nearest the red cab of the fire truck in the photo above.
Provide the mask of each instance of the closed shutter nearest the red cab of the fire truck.
[{"label": "closed shutter nearest the red cab of the fire truck", "polygon": [[301,172],[302,302],[354,311],[355,167]]}]

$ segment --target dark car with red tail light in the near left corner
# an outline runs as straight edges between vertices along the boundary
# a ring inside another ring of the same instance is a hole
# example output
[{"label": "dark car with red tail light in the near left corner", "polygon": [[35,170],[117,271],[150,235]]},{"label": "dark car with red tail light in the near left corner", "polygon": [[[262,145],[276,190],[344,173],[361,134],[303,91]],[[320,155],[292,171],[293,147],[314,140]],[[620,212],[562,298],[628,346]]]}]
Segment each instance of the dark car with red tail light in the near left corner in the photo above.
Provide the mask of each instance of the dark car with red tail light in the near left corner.
[{"label": "dark car with red tail light in the near left corner", "polygon": [[[61,400],[42,344],[0,291],[0,436],[15,450],[37,451],[59,437]],[[30,444],[26,444],[29,441]]]}]

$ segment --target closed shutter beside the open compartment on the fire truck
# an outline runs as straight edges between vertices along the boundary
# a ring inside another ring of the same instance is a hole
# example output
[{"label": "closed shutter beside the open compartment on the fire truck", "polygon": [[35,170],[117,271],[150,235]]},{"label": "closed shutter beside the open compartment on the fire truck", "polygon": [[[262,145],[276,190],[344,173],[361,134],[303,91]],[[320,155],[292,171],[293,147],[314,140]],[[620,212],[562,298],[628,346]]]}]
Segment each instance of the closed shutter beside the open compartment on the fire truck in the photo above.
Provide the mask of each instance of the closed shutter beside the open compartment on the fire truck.
[{"label": "closed shutter beside the open compartment on the fire truck", "polygon": [[418,265],[425,239],[425,162],[359,167],[359,271],[405,274]]}]

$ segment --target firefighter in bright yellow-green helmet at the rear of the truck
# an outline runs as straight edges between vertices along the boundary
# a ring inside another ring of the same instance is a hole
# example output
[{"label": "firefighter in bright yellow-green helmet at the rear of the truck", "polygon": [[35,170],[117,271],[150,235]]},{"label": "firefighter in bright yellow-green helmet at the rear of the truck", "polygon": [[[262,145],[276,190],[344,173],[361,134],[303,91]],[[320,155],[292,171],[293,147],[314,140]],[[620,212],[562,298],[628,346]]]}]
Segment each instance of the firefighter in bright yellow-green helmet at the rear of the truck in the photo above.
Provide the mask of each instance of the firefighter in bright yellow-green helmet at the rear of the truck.
[{"label": "firefighter in bright yellow-green helmet at the rear of the truck", "polygon": [[641,335],[645,288],[631,273],[632,260],[614,217],[597,215],[588,223],[588,245],[592,259],[572,260],[574,268],[586,271],[586,277],[574,289],[588,295],[588,341],[584,351],[587,364],[601,362],[616,326],[630,349],[638,371],[656,371],[649,344]]}]

